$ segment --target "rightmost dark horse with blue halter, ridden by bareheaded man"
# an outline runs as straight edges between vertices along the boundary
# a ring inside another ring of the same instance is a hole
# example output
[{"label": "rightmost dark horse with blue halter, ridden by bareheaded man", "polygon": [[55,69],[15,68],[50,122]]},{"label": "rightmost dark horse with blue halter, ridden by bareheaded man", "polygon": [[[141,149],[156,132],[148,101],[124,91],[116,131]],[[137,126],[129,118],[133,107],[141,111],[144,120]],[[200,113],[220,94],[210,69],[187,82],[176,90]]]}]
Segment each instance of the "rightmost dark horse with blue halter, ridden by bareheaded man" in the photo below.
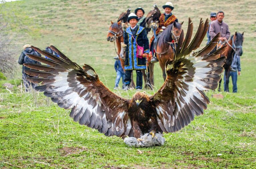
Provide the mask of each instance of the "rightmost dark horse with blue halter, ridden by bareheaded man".
[{"label": "rightmost dark horse with blue halter, ridden by bareheaded man", "polygon": [[[225,50],[225,52],[221,55],[222,56],[226,56],[227,60],[226,63],[223,65],[224,69],[225,69],[225,77],[226,79],[224,79],[226,81],[226,91],[229,92],[229,88],[228,88],[228,83],[229,83],[229,74],[230,74],[230,67],[233,61],[233,57],[234,55],[238,55],[238,56],[242,56],[243,54],[243,41],[244,41],[244,32],[243,33],[238,33],[236,32],[235,35],[232,35],[230,37],[230,40],[228,41],[228,46],[227,49]],[[221,80],[219,82],[219,91],[221,90],[220,88],[221,86]]]}]

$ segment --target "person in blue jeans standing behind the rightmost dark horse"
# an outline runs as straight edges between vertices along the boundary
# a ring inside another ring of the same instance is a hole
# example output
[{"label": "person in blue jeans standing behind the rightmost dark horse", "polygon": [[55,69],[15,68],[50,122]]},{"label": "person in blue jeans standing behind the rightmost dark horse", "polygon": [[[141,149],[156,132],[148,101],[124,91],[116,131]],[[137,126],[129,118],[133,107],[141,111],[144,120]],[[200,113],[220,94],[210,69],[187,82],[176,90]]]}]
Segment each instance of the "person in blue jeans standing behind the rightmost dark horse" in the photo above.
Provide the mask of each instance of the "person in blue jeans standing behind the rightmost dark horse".
[{"label": "person in blue jeans standing behind the rightmost dark horse", "polygon": [[[240,56],[238,56],[237,54],[234,54],[233,61],[230,66],[230,73],[229,73],[229,77],[231,76],[231,78],[232,78],[233,93],[237,93],[237,84],[236,84],[237,72],[238,72],[238,75],[241,74]],[[225,80],[226,79],[226,70],[225,70],[225,73],[224,73],[224,91],[225,92],[229,92],[229,87],[228,87],[229,77],[228,77],[228,80],[226,81]]]}]

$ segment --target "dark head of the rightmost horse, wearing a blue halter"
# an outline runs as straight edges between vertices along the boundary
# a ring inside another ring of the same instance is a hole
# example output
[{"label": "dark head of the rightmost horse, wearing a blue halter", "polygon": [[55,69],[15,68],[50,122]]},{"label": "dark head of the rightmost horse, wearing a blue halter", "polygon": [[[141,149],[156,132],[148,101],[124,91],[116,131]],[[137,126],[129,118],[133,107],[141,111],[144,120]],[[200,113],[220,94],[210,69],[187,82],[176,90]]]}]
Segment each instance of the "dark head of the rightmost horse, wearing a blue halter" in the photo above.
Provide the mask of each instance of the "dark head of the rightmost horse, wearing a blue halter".
[{"label": "dark head of the rightmost horse, wearing a blue halter", "polygon": [[242,56],[244,32],[243,33],[236,32],[235,35],[231,36],[231,38],[232,38],[232,47],[235,49],[236,54],[238,56]]}]

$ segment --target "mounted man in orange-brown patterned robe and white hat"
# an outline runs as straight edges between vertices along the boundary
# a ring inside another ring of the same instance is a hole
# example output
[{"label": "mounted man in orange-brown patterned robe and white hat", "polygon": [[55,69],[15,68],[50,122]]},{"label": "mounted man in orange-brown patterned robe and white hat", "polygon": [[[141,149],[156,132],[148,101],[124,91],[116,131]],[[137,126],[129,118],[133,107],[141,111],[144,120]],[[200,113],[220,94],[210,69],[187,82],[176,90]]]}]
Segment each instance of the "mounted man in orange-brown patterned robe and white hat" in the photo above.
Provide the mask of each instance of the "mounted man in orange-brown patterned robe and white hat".
[{"label": "mounted man in orange-brown patterned robe and white hat", "polygon": [[[176,18],[176,16],[174,16],[172,14],[172,11],[174,9],[172,2],[166,2],[166,4],[163,6],[163,8],[165,10],[165,13],[162,13],[159,17],[159,27],[156,31],[157,35],[159,35],[161,32],[163,32],[165,30],[165,28],[167,26],[171,25],[173,22],[178,22],[178,19]],[[154,36],[150,39],[152,53],[153,53],[153,50],[154,50],[154,44],[153,44],[154,39],[155,39]],[[152,63],[157,62],[156,56],[152,57],[151,62]]]}]

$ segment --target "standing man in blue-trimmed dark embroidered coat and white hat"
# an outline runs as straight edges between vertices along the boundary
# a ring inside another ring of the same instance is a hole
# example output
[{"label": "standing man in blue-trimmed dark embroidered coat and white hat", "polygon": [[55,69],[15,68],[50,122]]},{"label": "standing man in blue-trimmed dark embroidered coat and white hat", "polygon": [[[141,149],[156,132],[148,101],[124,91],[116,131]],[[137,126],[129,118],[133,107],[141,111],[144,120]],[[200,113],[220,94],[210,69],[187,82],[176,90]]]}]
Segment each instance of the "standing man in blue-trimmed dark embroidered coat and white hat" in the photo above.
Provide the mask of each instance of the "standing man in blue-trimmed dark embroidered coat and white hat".
[{"label": "standing man in blue-trimmed dark embroidered coat and white hat", "polygon": [[[141,70],[146,69],[146,57],[149,54],[149,39],[147,37],[147,31],[138,26],[138,16],[134,13],[131,13],[128,17],[128,22],[130,27],[128,27],[123,34],[124,44],[126,44],[125,50],[125,88],[124,90],[129,89],[129,85],[132,81],[131,74],[133,70],[136,70],[137,80],[136,80],[136,89],[142,89],[142,72]],[[135,41],[136,40],[136,41]],[[136,56],[137,53],[137,44],[144,47],[144,57],[139,58]]]}]

